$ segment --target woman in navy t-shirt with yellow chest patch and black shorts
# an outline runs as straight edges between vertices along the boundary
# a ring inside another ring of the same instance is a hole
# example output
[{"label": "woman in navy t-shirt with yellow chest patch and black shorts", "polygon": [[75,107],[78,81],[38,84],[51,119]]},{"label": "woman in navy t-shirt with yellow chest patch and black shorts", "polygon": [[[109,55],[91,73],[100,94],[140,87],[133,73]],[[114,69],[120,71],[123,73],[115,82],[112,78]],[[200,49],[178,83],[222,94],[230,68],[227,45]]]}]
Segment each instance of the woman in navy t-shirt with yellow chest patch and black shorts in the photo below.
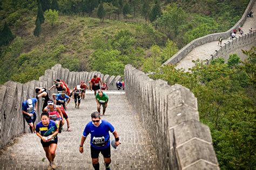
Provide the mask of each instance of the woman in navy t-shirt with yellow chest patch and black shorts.
[{"label": "woman in navy t-shirt with yellow chest patch and black shorts", "polygon": [[41,138],[46,158],[50,163],[47,169],[56,169],[54,158],[58,143],[58,126],[55,121],[49,120],[48,113],[41,114],[41,121],[36,125],[36,134]]}]

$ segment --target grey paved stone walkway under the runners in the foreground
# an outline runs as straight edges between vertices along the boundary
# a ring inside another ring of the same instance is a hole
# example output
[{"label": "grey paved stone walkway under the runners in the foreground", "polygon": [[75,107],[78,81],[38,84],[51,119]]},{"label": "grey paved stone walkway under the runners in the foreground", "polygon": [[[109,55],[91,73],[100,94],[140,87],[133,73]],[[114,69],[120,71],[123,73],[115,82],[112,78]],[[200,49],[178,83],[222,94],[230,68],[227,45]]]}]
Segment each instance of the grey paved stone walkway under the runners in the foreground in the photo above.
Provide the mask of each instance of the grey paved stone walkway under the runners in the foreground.
[{"label": "grey paved stone walkway under the runners in the foreground", "polygon": [[[125,94],[108,94],[110,101],[102,119],[110,121],[119,133],[121,145],[111,147],[111,169],[158,169],[156,152],[139,118],[131,110]],[[91,113],[96,111],[93,94],[86,94],[80,108],[75,108],[73,100],[68,105],[67,113],[72,132],[58,134],[56,152],[57,169],[93,169],[90,155],[90,138],[84,145],[84,153],[78,151],[84,126],[91,120]],[[114,139],[111,135],[111,140]],[[105,169],[103,157],[99,157],[100,169]],[[23,134],[4,149],[0,150],[0,169],[46,169],[48,160],[36,134]]]}]

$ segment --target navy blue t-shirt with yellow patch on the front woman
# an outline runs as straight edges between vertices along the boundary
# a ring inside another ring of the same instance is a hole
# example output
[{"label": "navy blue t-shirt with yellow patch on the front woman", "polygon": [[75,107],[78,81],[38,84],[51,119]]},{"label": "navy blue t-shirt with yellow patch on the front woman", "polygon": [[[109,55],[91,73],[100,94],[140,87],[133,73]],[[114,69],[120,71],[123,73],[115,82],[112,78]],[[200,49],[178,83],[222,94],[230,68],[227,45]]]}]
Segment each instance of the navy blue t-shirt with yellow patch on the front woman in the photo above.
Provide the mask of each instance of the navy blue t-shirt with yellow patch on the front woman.
[{"label": "navy blue t-shirt with yellow patch on the front woman", "polygon": [[[36,124],[36,132],[40,132],[40,134],[43,137],[48,137],[58,129],[58,124],[55,121],[53,120],[49,120],[49,121],[50,122],[48,126],[44,126],[42,121],[39,121]],[[54,138],[56,138],[56,136]]]}]

